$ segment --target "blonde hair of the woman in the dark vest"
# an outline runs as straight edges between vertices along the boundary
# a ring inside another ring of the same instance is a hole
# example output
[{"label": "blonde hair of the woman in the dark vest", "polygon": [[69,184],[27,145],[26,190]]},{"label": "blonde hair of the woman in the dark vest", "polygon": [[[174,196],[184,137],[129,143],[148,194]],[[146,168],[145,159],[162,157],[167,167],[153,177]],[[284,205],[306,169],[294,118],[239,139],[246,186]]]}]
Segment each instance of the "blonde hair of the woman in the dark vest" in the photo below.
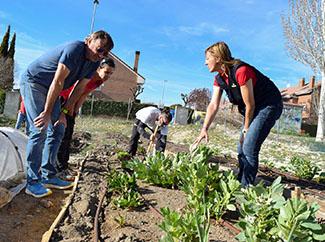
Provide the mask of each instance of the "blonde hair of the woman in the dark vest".
[{"label": "blonde hair of the woman in the dark vest", "polygon": [[234,66],[240,59],[235,59],[231,55],[228,45],[223,41],[218,41],[206,48],[205,53],[210,52],[215,58],[220,58],[220,63],[224,65],[229,73],[229,66]]}]

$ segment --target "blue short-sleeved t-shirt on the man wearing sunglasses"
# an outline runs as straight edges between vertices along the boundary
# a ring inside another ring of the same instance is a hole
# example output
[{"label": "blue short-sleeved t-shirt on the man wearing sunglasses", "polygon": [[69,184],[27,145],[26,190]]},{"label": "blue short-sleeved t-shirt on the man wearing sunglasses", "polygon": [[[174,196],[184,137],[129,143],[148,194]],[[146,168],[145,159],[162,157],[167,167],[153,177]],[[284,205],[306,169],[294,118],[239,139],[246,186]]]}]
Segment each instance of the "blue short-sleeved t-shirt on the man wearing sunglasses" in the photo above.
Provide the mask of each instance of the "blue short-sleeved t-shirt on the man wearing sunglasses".
[{"label": "blue short-sleeved t-shirt on the man wearing sunglasses", "polygon": [[32,62],[22,78],[29,82],[36,82],[44,87],[50,87],[58,64],[66,65],[70,73],[64,80],[62,90],[71,87],[83,78],[91,79],[100,61],[92,62],[85,57],[85,43],[70,41],[63,43]]}]

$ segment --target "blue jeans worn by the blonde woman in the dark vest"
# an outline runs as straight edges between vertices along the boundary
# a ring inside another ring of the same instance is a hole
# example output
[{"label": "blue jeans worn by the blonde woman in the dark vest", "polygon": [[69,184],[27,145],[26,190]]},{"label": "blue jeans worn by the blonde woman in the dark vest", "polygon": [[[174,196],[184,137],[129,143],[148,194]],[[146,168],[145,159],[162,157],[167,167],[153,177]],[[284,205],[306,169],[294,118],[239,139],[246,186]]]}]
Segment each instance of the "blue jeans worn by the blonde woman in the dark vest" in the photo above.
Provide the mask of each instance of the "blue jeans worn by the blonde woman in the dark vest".
[{"label": "blue jeans worn by the blonde woman in the dark vest", "polygon": [[283,103],[281,101],[276,105],[269,105],[255,110],[255,115],[247,130],[243,146],[240,145],[243,134],[239,138],[237,148],[239,162],[238,180],[243,188],[249,184],[254,184],[261,146],[269,135],[275,121],[280,118],[282,109]]}]

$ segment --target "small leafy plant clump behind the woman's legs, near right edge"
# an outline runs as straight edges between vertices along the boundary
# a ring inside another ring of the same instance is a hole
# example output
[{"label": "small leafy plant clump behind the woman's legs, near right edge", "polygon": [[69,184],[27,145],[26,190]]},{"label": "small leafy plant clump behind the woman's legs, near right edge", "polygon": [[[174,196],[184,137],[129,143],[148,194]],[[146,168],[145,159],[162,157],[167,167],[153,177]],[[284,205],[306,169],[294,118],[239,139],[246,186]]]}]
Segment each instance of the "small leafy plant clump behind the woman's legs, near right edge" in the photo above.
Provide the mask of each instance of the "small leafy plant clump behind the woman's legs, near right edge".
[{"label": "small leafy plant clump behind the woman's legs, near right edge", "polygon": [[290,160],[290,164],[290,169],[297,177],[307,180],[313,179],[314,176],[321,171],[321,169],[314,165],[311,161],[306,161],[305,159],[299,157],[293,157]]}]

